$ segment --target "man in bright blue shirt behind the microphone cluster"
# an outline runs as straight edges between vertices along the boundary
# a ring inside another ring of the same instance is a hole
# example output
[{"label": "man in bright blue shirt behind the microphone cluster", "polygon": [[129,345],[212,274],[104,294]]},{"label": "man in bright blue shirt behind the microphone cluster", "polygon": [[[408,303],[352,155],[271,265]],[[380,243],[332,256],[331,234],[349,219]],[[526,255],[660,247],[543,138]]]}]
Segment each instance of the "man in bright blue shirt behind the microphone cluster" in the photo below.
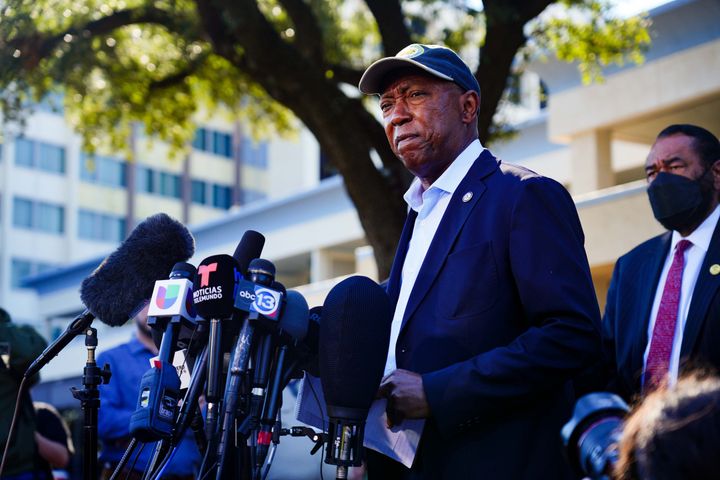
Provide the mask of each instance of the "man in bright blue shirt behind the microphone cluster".
[{"label": "man in bright blue shirt behind the microphone cluster", "polygon": [[[137,407],[140,380],[150,368],[150,359],[158,354],[152,331],[147,324],[147,312],[146,306],[133,319],[136,331],[129,342],[106,350],[97,357],[98,365],[107,363],[112,372],[110,383],[99,387],[98,437],[102,442],[99,460],[103,467],[101,480],[110,478],[130,443],[130,416]],[[117,478],[140,480],[154,450],[154,443],[148,443],[142,449],[136,448],[125,470]],[[137,460],[134,460],[135,455]],[[200,453],[188,430],[166,468],[163,479],[193,480],[200,461]]]}]

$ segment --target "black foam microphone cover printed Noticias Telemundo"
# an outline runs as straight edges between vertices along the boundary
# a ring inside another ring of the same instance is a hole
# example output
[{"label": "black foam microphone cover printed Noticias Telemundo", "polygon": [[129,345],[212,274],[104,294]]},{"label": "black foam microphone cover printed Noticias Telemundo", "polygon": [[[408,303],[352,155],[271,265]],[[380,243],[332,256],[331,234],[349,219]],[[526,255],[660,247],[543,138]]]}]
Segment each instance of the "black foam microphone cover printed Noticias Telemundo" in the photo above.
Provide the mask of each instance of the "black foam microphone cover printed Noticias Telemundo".
[{"label": "black foam microphone cover printed Noticias Telemundo", "polygon": [[230,318],[239,279],[240,269],[230,255],[212,255],[200,262],[193,281],[193,301],[198,315],[205,319]]}]

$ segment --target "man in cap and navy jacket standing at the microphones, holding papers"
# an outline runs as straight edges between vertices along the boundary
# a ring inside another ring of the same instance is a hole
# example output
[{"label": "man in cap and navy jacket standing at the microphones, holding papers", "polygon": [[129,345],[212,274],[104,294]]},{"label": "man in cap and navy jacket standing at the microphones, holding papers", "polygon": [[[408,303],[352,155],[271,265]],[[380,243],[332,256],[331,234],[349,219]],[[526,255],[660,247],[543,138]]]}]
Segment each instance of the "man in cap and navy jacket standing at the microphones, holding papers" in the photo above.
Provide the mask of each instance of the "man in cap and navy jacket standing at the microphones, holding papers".
[{"label": "man in cap and navy jacket standing at the microphones, holding papers", "polygon": [[600,355],[572,199],[483,149],[480,88],[452,50],[411,45],[359,86],[380,95],[390,145],[416,177],[379,394],[390,423],[427,419],[412,469],[370,454],[370,479],[568,478],[570,379]]}]

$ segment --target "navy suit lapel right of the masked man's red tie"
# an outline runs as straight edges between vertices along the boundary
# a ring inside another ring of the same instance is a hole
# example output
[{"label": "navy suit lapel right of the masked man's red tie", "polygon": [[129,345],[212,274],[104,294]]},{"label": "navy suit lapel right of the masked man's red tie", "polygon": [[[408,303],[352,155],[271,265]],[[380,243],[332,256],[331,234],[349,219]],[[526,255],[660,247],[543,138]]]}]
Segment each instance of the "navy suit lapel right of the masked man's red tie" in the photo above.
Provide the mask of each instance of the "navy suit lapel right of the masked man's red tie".
[{"label": "navy suit lapel right of the masked man's red tie", "polygon": [[710,267],[717,264],[720,264],[720,222],[715,226],[712,240],[710,240],[710,246],[705,254],[705,259],[703,260],[700,273],[695,282],[695,290],[693,290],[692,300],[690,301],[688,318],[685,322],[685,331],[683,332],[683,342],[680,347],[681,358],[687,357],[692,353],[698,339],[698,334],[706,319],[710,301],[714,297],[718,287],[720,287],[720,275],[710,273]]}]

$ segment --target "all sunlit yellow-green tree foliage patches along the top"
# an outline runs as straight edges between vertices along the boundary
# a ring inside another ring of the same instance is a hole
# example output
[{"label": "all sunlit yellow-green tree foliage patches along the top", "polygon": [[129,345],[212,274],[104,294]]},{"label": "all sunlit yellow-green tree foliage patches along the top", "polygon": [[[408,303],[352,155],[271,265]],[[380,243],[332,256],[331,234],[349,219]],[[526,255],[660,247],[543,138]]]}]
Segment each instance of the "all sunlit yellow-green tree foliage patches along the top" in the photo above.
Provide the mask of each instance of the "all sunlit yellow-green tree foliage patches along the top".
[{"label": "all sunlit yellow-green tree foliage patches along the top", "polygon": [[[297,26],[280,0],[257,3],[283,41],[297,41]],[[564,6],[559,13],[529,26],[536,49],[577,61],[586,81],[600,78],[610,63],[642,61],[649,43],[646,18],[613,18],[606,0],[559,4]],[[5,121],[22,121],[23,106],[61,91],[87,150],[109,146],[127,154],[130,132],[138,124],[176,153],[188,148],[203,115],[219,111],[244,119],[255,137],[287,134],[297,125],[241,65],[215,51],[194,1],[6,0],[0,5]],[[377,57],[379,29],[364,2],[305,0],[305,5],[322,36],[326,78],[334,78],[334,65],[359,70]],[[462,0],[402,5],[414,39],[444,43],[473,64],[485,35],[482,12]],[[129,18],[112,24],[121,15]],[[242,59],[242,45],[233,48]]]}]

